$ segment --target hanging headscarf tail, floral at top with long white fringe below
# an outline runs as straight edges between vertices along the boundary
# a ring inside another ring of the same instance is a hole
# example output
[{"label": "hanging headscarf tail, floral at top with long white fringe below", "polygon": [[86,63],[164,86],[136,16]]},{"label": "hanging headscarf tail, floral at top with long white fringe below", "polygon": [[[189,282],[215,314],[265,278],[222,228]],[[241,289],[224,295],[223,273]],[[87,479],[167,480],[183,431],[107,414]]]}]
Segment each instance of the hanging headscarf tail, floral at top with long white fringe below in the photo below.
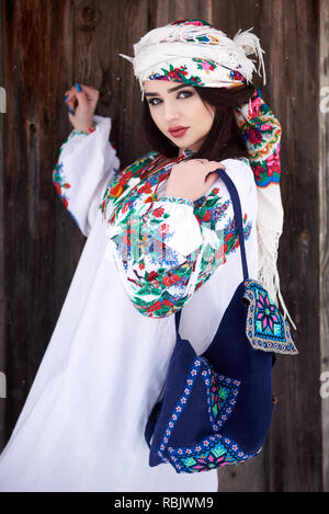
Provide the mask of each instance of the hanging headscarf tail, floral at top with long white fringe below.
[{"label": "hanging headscarf tail, floral at top with long white fringe below", "polygon": [[236,122],[249,153],[249,161],[258,186],[257,236],[259,253],[258,281],[271,298],[282,306],[284,318],[294,324],[280,290],[276,267],[279,240],[283,230],[281,199],[281,135],[282,127],[257,89],[249,104],[235,111]]}]

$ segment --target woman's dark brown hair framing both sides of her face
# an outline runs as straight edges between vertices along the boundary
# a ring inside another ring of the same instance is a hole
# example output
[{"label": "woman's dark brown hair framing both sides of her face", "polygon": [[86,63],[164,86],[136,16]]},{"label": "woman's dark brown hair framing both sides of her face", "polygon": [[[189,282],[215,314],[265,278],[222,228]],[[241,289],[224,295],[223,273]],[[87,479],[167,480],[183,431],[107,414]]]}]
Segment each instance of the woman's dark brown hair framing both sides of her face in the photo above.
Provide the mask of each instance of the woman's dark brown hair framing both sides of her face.
[{"label": "woman's dark brown hair framing both sides of her face", "polygon": [[[219,161],[248,157],[242,136],[235,121],[234,110],[248,103],[254,92],[254,85],[246,84],[237,88],[202,88],[194,87],[203,102],[214,106],[213,126],[198,152],[193,158]],[[178,147],[157,127],[144,99],[143,126],[146,140],[151,148],[167,158],[178,156]]]}]

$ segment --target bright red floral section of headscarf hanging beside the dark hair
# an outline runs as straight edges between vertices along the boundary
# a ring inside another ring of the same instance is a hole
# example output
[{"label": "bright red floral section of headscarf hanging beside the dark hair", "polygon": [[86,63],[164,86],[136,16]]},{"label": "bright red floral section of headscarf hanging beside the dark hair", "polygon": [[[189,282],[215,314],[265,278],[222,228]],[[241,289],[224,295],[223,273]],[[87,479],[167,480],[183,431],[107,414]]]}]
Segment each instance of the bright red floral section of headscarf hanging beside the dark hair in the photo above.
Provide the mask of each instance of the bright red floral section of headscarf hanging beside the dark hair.
[{"label": "bright red floral section of headscarf hanging beside the dark hair", "polygon": [[250,164],[259,187],[280,183],[281,124],[262,99],[259,89],[253,99],[236,108],[236,121],[250,155]]}]

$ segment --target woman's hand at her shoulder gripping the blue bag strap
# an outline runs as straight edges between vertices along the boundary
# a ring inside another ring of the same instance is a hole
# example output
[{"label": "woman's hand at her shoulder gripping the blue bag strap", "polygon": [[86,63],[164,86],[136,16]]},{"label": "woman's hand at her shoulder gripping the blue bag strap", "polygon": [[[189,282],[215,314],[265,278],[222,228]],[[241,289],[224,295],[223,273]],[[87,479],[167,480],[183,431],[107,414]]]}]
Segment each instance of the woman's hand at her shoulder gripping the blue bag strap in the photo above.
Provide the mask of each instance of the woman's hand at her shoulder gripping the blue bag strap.
[{"label": "woman's hand at her shoulder gripping the blue bag strap", "polygon": [[223,164],[207,159],[191,159],[172,167],[167,181],[166,196],[175,196],[195,202],[203,196],[218,178],[215,170]]}]

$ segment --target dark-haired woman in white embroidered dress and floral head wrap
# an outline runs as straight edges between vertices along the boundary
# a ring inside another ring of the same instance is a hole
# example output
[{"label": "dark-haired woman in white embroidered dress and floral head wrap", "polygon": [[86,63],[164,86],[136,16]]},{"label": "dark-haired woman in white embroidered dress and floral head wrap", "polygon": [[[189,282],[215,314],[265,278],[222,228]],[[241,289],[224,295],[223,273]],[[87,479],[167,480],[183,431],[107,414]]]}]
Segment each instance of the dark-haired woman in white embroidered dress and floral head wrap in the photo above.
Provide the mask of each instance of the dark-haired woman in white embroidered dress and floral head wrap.
[{"label": "dark-haired woman in white embroidered dress and floral head wrap", "polygon": [[[251,98],[253,107],[265,104],[247,83],[253,65],[242,46],[200,20],[157,31],[135,45],[133,59],[154,150],[125,170],[109,142],[111,119],[93,114],[99,91],[77,84],[65,93],[73,130],[53,179],[88,239],[1,454],[1,491],[217,490],[216,470],[177,475],[169,465],[149,467],[144,430],[175,341],[171,315],[183,308],[181,335],[200,354],[242,279],[218,168],[240,195],[257,278],[257,185],[235,110]],[[220,49],[222,65],[206,60],[206,36]],[[177,58],[166,68],[161,44],[170,43]]]}]

